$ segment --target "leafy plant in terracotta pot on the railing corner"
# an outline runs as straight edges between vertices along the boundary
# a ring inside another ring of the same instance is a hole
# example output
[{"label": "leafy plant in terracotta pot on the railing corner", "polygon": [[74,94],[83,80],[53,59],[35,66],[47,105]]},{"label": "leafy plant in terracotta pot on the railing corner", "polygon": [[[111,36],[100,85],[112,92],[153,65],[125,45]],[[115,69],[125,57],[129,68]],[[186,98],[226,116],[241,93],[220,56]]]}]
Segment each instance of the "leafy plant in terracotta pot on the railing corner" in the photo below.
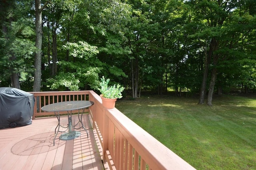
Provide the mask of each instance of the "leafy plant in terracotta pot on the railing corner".
[{"label": "leafy plant in terracotta pot on the railing corner", "polygon": [[122,91],[124,87],[121,85],[112,85],[108,86],[110,79],[106,79],[102,76],[100,82],[100,88],[98,90],[101,92],[102,105],[107,109],[113,109],[115,107],[116,99],[122,98]]}]

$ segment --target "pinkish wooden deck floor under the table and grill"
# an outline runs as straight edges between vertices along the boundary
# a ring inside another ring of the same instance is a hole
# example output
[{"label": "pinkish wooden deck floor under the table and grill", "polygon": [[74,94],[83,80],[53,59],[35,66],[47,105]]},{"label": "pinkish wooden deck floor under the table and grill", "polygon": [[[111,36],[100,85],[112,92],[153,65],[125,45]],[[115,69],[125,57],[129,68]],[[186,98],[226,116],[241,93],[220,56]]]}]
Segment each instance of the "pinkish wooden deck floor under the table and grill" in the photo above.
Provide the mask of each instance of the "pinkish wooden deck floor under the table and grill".
[{"label": "pinkish wooden deck floor under the table and grill", "polygon": [[[76,119],[74,119],[76,118]],[[72,119],[77,121],[76,116]],[[74,140],[55,139],[56,117],[33,120],[31,125],[0,129],[0,170],[104,170],[102,149],[91,126],[90,115],[83,115],[81,136]],[[60,124],[67,125],[67,116]],[[104,168],[105,166],[105,168]]]}]

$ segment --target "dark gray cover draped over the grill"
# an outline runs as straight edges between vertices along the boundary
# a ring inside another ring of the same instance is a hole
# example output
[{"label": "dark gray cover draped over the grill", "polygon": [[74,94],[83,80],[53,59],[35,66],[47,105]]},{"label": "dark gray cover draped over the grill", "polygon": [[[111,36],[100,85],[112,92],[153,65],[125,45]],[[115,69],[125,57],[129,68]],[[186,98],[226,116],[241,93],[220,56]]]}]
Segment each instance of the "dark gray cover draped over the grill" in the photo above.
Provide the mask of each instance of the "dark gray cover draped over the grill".
[{"label": "dark gray cover draped over the grill", "polygon": [[34,95],[20,89],[0,87],[0,128],[26,126],[32,123]]}]

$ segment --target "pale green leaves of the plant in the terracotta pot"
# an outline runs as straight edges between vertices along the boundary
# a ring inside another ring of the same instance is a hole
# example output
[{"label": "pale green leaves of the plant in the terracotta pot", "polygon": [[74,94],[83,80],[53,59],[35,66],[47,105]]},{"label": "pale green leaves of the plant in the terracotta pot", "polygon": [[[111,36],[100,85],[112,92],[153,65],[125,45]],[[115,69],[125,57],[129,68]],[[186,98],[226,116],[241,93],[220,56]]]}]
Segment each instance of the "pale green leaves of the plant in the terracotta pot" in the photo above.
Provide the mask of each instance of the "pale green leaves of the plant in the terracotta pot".
[{"label": "pale green leaves of the plant in the terracotta pot", "polygon": [[108,86],[108,83],[110,81],[110,79],[106,79],[104,78],[104,76],[102,76],[102,78],[100,78],[100,88],[98,88],[98,90],[101,92],[101,94],[103,95],[103,97],[108,98],[108,99],[114,99],[114,98],[122,98],[122,91],[124,91],[124,87],[121,87],[121,85],[112,85],[112,86]]}]

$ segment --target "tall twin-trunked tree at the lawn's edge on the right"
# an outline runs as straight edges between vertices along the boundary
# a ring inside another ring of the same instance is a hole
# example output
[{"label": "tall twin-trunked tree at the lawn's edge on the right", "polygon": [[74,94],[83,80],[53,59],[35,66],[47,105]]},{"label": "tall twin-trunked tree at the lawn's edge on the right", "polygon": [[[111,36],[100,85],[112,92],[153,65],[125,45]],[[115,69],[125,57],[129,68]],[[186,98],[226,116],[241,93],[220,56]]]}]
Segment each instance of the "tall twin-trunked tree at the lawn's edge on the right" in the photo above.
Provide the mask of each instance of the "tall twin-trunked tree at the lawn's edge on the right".
[{"label": "tall twin-trunked tree at the lawn's edge on the right", "polygon": [[213,67],[211,67],[211,80],[207,100],[207,105],[212,105],[212,95],[214,93],[214,85],[217,75],[216,65],[220,57],[216,51],[220,48],[222,36],[225,34],[222,25],[224,24],[226,18],[232,14],[232,11],[237,4],[232,1],[222,2],[218,0],[196,0],[188,2],[188,4],[190,4],[192,9],[194,9],[194,18],[192,21],[198,22],[198,24],[201,26],[201,30],[198,29],[198,31],[193,34],[192,37],[202,39],[206,42],[204,73],[198,104],[204,103],[208,70],[210,69],[210,64],[212,64]]}]

